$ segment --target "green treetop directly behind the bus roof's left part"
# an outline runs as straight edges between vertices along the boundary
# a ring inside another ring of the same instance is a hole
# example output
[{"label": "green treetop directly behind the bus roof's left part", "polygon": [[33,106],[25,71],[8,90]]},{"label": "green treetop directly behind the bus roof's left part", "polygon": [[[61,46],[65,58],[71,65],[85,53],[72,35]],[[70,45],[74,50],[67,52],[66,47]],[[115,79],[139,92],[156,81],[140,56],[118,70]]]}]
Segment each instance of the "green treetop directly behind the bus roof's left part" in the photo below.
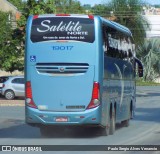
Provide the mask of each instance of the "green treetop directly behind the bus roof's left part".
[{"label": "green treetop directly behind the bus roof's left part", "polygon": [[76,0],[28,0],[18,25],[23,29],[22,33],[25,35],[26,21],[29,15],[82,12],[83,8]]}]

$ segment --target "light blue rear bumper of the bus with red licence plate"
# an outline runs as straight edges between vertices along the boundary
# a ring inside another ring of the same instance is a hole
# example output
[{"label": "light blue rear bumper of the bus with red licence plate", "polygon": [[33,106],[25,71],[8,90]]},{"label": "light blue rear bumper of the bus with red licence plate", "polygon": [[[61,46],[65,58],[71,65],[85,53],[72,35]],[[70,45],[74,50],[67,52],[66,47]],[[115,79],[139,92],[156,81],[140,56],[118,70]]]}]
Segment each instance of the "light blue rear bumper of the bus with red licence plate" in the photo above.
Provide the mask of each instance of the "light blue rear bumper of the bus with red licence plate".
[{"label": "light blue rear bumper of the bus with red licence plate", "polygon": [[101,107],[81,112],[48,112],[27,107],[26,123],[30,125],[99,125]]}]

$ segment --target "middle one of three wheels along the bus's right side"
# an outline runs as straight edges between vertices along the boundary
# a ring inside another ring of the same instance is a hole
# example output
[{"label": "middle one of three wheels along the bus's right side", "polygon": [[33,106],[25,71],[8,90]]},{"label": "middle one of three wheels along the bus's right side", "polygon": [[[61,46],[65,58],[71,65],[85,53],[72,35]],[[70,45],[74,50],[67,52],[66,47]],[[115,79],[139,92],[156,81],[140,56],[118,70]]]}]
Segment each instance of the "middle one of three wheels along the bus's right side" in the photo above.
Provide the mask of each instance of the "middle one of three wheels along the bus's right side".
[{"label": "middle one of three wheels along the bus's right side", "polygon": [[116,128],[116,117],[115,117],[115,111],[112,112],[110,116],[110,127],[109,127],[109,134],[113,135]]}]

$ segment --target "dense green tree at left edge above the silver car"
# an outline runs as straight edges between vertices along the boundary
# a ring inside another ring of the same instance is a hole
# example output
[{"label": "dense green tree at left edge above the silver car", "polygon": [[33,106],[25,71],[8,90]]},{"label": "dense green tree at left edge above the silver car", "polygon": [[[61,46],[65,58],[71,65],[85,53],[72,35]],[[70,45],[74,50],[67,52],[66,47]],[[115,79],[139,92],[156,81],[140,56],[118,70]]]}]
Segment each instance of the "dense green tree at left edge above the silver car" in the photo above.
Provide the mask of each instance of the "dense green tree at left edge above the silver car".
[{"label": "dense green tree at left edge above the silver car", "polygon": [[11,29],[8,21],[9,13],[0,12],[0,69],[13,72],[23,69],[22,52],[20,50],[20,40],[14,39],[15,32]]}]

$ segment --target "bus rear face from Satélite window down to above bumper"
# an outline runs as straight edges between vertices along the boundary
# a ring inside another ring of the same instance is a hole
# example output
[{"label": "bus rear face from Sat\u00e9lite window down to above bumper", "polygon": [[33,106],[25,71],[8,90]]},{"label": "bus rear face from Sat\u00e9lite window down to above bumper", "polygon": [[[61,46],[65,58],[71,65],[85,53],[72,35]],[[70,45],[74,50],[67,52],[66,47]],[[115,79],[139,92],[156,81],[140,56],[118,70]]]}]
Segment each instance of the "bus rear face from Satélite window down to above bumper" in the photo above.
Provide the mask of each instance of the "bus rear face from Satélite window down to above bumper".
[{"label": "bus rear face from Sat\u00e9lite window down to above bumper", "polygon": [[95,74],[94,19],[36,17],[31,41],[34,50],[28,58],[33,100],[38,108],[85,110],[91,100]]}]

